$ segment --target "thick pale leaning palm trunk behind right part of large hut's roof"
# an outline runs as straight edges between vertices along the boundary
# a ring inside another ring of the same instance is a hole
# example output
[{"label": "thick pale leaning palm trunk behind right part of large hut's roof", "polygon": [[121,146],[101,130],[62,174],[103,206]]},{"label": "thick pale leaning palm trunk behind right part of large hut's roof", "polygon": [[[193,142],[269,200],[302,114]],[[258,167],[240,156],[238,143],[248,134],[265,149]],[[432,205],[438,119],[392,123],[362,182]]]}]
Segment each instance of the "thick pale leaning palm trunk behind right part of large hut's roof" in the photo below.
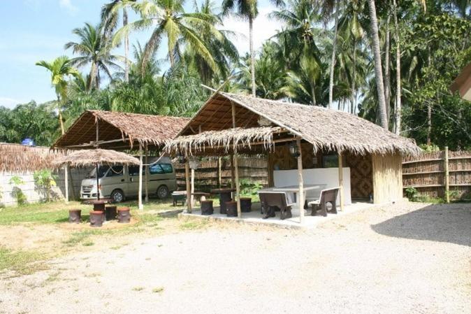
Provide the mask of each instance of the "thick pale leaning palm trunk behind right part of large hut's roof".
[{"label": "thick pale leaning palm trunk behind right part of large hut's roof", "polygon": [[387,130],[388,119],[386,117],[386,100],[384,99],[383,71],[381,65],[381,53],[379,52],[378,20],[376,17],[375,0],[368,0],[368,6],[370,8],[372,50],[375,56],[375,76],[378,94],[377,115],[379,125],[381,125],[384,129]]}]

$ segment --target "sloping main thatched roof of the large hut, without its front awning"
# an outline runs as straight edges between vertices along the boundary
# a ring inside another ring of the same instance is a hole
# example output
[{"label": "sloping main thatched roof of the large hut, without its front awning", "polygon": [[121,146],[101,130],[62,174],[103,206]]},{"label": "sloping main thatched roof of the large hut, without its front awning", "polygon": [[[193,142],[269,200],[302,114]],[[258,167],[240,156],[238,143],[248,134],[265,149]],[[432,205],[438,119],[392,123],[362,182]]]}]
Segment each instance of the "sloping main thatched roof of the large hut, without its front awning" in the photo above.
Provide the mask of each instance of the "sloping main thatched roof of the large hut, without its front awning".
[{"label": "sloping main thatched roof of the large hut, without its front awning", "polygon": [[[318,150],[389,154],[400,152],[415,155],[420,148],[414,140],[404,138],[361,117],[319,106],[291,104],[224,92],[215,93],[180,132],[193,135],[191,146],[196,150],[201,139],[195,130],[220,131],[232,127],[232,104],[235,104],[236,127],[282,127],[299,136]],[[175,139],[175,145],[180,139]],[[190,139],[186,139],[190,145]]]}]

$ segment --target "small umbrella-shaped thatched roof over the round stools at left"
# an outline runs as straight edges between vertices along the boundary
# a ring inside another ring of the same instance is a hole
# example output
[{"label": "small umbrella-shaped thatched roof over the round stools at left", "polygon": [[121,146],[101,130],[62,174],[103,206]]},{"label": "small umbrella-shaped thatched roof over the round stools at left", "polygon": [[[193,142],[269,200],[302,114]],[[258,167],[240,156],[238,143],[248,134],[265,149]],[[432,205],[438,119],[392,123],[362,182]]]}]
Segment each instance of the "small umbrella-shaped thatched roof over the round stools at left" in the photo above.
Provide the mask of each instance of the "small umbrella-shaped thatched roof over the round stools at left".
[{"label": "small umbrella-shaped thatched roof over the round stools at left", "polygon": [[94,166],[96,164],[113,166],[114,164],[139,164],[139,159],[116,150],[75,150],[68,155],[57,157],[52,164],[57,167],[66,164],[73,167]]}]

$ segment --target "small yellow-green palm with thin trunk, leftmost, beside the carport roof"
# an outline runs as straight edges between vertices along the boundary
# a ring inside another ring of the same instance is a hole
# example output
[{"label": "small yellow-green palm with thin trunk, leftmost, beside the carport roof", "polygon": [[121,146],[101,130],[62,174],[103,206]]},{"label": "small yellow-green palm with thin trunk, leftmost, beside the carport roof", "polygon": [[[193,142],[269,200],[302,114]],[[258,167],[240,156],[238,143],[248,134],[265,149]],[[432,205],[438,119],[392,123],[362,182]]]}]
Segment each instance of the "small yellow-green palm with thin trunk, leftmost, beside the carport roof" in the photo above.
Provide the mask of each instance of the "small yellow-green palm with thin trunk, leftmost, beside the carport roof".
[{"label": "small yellow-green palm with thin trunk, leftmost, beside the carport roof", "polygon": [[79,77],[77,69],[71,66],[71,59],[68,59],[66,56],[57,57],[52,62],[46,62],[41,60],[36,62],[37,66],[43,66],[45,69],[48,69],[51,73],[51,83],[55,88],[57,96],[57,112],[59,115],[59,124],[61,126],[61,133],[65,133],[64,121],[62,120],[62,104],[67,98],[67,78],[69,76]]}]

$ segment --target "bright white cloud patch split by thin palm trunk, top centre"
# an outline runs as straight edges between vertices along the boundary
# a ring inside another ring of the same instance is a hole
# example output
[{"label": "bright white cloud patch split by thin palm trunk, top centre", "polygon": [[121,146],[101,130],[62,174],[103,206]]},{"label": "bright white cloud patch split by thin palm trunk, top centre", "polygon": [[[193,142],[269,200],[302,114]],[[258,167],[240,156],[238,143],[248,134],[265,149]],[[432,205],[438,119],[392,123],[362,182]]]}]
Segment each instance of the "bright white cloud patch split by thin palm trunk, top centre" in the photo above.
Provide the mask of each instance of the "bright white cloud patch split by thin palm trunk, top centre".
[{"label": "bright white cloud patch split by thin palm trunk, top centre", "polygon": [[[266,6],[259,8],[259,16],[254,21],[254,50],[261,47],[262,43],[268,38],[277,34],[277,30],[281,29],[280,22],[270,19],[268,14],[273,11],[273,7]],[[235,38],[231,38],[239,53],[249,51],[249,22],[240,20],[237,17],[224,18],[224,29],[234,31]]]}]

